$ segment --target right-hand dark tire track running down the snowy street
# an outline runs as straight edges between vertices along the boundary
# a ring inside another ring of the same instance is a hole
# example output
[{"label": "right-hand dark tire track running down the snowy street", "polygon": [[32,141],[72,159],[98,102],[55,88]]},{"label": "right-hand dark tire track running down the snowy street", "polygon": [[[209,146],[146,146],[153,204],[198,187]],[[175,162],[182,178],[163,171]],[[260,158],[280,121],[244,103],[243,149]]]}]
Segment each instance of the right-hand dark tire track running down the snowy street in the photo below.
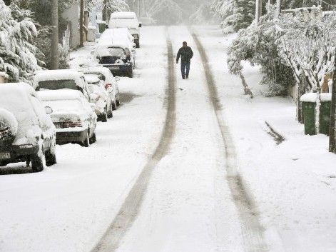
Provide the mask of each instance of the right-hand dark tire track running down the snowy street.
[{"label": "right-hand dark tire track running down the snowy street", "polygon": [[218,99],[218,91],[209,66],[208,56],[206,55],[203,45],[198,39],[198,36],[193,33],[193,31],[191,31],[191,33],[203,61],[208,93],[210,94],[210,100],[213,105],[213,109],[215,109],[218,126],[220,127],[220,133],[222,135],[225,146],[225,166],[227,171],[226,178],[228,180],[228,185],[230,187],[233,200],[235,201],[235,206],[238,208],[245,251],[266,252],[268,251],[268,246],[266,245],[263,238],[264,228],[259,222],[259,214],[258,211],[256,211],[256,206],[251,200],[250,196],[248,196],[248,192],[245,189],[243,180],[238,172],[235,145],[230,134],[230,129],[225,124],[221,114],[222,106],[220,104],[220,100]]}]

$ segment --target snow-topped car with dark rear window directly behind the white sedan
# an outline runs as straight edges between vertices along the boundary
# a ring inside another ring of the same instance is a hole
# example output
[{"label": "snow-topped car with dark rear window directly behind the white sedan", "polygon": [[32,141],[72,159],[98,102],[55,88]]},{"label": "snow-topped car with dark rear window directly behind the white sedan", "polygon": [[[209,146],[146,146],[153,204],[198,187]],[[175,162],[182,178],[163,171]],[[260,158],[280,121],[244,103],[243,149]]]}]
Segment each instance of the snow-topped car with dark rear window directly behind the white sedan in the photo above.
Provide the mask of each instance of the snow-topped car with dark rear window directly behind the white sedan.
[{"label": "snow-topped car with dark rear window directly behind the white sedan", "polygon": [[89,102],[91,101],[88,83],[83,73],[74,70],[39,71],[34,76],[34,89],[36,91],[58,89],[78,90],[81,91]]}]

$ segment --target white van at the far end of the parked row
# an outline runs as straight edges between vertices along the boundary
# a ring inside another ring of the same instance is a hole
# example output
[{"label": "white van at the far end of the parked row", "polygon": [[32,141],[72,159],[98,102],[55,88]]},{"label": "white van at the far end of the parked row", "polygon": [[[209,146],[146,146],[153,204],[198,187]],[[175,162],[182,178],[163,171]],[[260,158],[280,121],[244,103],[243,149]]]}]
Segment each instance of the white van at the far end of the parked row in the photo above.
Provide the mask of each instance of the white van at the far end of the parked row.
[{"label": "white van at the far end of the parked row", "polygon": [[141,23],[134,12],[123,11],[123,12],[113,12],[111,14],[111,19],[108,23],[108,28],[128,28],[134,37],[134,43],[136,47],[140,47],[140,31]]}]

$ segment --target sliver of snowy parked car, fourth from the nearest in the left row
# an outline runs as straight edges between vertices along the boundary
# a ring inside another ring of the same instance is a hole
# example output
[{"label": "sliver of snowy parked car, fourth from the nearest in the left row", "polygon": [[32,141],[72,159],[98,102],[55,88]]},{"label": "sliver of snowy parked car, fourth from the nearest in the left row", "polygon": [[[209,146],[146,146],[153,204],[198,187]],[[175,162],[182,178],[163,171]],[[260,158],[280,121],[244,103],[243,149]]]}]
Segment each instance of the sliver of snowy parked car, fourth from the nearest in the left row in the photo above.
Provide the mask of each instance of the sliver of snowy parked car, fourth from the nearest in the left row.
[{"label": "sliver of snowy parked car, fourth from the nearest in the left row", "polygon": [[85,74],[85,79],[88,81],[88,89],[94,104],[96,104],[96,114],[100,121],[106,122],[108,118],[113,116],[112,104],[108,92],[103,87],[101,81],[95,74]]}]

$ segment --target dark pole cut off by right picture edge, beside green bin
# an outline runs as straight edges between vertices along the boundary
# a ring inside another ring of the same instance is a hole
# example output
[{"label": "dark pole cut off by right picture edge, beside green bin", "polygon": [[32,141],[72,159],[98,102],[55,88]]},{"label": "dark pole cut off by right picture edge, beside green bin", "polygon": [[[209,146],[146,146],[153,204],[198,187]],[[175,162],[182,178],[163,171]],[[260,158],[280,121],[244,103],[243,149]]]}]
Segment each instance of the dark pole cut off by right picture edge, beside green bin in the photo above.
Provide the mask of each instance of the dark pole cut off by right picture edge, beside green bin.
[{"label": "dark pole cut off by right picture edge, beside green bin", "polygon": [[335,49],[334,76],[332,77],[329,151],[336,154],[336,49]]}]

